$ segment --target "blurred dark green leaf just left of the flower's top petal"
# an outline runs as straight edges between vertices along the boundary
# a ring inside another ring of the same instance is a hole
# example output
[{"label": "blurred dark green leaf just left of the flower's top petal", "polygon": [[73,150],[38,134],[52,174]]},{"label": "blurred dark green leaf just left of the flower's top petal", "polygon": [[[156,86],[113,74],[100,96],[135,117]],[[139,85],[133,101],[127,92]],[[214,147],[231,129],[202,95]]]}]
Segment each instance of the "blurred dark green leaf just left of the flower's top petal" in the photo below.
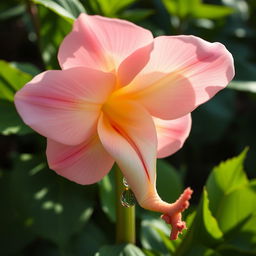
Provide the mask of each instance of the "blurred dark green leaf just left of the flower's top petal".
[{"label": "blurred dark green leaf just left of the flower's top petal", "polygon": [[58,49],[64,37],[71,31],[71,24],[42,6],[39,8],[39,17],[42,59],[47,69],[59,69]]}]

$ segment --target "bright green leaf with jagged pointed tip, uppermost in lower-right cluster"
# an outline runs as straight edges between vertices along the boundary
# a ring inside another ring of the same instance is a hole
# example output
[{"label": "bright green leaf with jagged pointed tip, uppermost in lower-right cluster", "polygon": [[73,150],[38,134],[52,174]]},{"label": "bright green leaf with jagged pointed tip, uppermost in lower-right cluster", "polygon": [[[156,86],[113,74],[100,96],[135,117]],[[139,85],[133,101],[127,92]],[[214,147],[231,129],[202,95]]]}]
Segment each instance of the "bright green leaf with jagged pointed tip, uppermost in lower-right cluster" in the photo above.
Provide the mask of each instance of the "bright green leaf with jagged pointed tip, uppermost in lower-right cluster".
[{"label": "bright green leaf with jagged pointed tip, uppermost in lower-right cluster", "polygon": [[210,174],[206,188],[210,199],[210,209],[214,216],[216,216],[223,196],[248,183],[243,170],[247,151],[246,148],[238,157],[222,162]]}]

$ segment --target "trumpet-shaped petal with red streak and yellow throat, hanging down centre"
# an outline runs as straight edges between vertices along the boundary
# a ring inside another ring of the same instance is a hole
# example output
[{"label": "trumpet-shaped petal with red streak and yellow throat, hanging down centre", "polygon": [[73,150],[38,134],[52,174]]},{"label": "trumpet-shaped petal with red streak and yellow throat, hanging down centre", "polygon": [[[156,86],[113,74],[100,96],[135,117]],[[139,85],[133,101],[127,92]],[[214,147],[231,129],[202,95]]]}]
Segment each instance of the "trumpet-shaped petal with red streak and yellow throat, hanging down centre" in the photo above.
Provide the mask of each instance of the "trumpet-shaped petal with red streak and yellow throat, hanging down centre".
[{"label": "trumpet-shaped petal with red streak and yellow throat, hanging down centre", "polygon": [[155,186],[156,131],[151,116],[133,102],[103,108],[98,123],[100,140],[115,159],[139,202]]}]

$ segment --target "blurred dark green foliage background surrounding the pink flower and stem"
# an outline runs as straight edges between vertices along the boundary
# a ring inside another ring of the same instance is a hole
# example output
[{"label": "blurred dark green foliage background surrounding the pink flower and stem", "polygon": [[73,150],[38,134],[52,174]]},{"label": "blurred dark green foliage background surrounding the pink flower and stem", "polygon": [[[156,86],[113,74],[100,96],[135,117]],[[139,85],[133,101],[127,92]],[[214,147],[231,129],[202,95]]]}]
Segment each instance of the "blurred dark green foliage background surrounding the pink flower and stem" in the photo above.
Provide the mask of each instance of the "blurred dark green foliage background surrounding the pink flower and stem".
[{"label": "blurred dark green foliage background surrounding the pink flower and stem", "polygon": [[[137,207],[136,246],[114,245],[113,173],[85,187],[57,176],[45,139],[16,113],[15,92],[59,69],[58,47],[81,12],[130,20],[154,36],[219,41],[233,54],[235,79],[192,113],[184,147],[158,162],[163,199],[176,200],[184,186],[195,191],[178,241],[158,215]],[[0,38],[1,256],[256,255],[255,0],[1,0]]]}]

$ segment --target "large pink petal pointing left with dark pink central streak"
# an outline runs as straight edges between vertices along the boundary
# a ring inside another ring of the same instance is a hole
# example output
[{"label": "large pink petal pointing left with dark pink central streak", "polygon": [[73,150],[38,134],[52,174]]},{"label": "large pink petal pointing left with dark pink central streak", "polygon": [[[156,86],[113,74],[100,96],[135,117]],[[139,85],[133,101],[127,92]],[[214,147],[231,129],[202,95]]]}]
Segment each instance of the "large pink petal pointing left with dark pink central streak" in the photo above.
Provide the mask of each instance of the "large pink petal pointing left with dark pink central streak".
[{"label": "large pink petal pointing left with dark pink central streak", "polygon": [[23,121],[41,135],[77,145],[95,132],[101,104],[114,86],[114,76],[101,71],[46,71],[17,92],[15,105]]}]

